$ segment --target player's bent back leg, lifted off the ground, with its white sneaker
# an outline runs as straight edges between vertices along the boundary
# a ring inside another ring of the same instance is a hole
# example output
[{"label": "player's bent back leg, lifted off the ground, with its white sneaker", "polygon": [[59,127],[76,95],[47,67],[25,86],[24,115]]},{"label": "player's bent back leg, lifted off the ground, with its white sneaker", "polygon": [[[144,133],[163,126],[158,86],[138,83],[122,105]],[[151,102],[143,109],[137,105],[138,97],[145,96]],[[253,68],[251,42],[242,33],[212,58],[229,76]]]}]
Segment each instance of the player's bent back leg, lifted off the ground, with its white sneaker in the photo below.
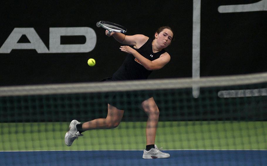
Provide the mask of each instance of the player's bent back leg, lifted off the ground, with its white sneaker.
[{"label": "player's bent back leg, lifted off the ground, with its white sneaker", "polygon": [[108,104],[108,114],[106,118],[99,118],[89,122],[80,123],[77,120],[70,122],[69,131],[65,134],[65,144],[71,146],[73,141],[79,136],[83,136],[82,132],[92,129],[112,129],[117,127],[123,117],[124,110]]}]

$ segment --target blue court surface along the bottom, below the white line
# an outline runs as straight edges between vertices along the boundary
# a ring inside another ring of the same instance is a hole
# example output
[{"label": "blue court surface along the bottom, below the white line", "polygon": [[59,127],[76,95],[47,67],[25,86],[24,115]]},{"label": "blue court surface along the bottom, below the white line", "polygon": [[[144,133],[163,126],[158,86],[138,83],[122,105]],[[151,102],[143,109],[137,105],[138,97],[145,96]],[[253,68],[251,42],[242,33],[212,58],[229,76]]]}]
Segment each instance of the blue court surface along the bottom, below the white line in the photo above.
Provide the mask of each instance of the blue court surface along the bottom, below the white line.
[{"label": "blue court surface along the bottom, below the white line", "polygon": [[141,166],[267,165],[266,150],[166,150],[168,159],[142,159],[143,151],[11,151],[0,152],[0,165]]}]

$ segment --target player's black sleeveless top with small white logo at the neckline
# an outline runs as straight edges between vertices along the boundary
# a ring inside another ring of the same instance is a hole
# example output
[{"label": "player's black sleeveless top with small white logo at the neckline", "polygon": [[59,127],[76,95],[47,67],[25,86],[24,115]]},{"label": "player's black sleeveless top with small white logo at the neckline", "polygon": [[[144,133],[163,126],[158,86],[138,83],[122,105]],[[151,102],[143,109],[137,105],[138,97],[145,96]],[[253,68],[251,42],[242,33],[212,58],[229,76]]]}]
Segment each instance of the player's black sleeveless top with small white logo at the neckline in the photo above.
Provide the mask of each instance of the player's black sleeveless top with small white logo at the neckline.
[{"label": "player's black sleeveless top with small white logo at the neckline", "polygon": [[[149,38],[148,41],[139,49],[136,49],[132,46],[131,47],[138,53],[140,53],[143,57],[153,61],[155,59],[158,59],[160,55],[165,53],[166,51],[163,49],[157,53],[153,53],[152,42],[153,39]],[[121,67],[113,74],[112,80],[119,81],[147,79],[151,72],[151,70],[147,70],[132,54],[128,54]]]}]

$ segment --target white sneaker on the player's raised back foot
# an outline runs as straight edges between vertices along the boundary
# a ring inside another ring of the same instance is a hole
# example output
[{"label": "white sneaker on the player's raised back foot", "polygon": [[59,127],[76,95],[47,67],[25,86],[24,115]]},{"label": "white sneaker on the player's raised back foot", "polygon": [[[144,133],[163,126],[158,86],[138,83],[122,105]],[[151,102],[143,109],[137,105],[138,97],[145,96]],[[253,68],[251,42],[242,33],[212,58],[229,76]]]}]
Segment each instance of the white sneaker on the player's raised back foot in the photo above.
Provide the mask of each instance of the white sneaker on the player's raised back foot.
[{"label": "white sneaker on the player's raised back foot", "polygon": [[71,146],[75,139],[78,139],[78,136],[83,136],[80,132],[77,131],[76,125],[80,124],[77,120],[72,120],[70,122],[69,131],[65,134],[65,143],[67,146]]}]

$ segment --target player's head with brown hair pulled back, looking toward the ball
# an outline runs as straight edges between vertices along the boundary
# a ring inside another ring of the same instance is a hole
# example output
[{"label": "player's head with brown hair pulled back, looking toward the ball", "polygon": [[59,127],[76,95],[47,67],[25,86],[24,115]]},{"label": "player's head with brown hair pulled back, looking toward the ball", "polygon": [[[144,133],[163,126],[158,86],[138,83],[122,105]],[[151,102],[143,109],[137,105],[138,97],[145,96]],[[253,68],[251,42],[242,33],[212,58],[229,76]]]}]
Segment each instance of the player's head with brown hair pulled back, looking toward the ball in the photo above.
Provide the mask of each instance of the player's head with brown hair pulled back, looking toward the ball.
[{"label": "player's head with brown hair pulled back, looking toward the ball", "polygon": [[163,31],[161,31],[159,34],[156,33],[155,37],[157,39],[157,42],[160,46],[163,48],[170,45],[170,42],[173,39],[173,32],[167,28],[165,28]]}]

